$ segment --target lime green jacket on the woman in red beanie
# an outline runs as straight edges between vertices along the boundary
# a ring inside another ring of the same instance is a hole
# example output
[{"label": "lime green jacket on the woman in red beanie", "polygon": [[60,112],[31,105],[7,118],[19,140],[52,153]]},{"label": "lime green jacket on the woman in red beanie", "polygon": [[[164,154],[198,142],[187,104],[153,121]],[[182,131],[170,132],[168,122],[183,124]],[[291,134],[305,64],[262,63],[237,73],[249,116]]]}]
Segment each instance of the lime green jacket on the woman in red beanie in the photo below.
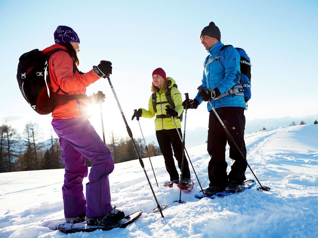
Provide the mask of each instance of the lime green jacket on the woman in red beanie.
[{"label": "lime green jacket on the woman in red beanie", "polygon": [[[176,106],[175,110],[178,112],[178,116],[181,115],[183,112],[183,106],[182,106],[182,95],[179,92],[179,90],[176,87],[173,87],[173,84],[176,83],[176,81],[173,78],[167,77],[167,80],[171,81],[171,85],[169,88],[171,88],[171,98]],[[155,88],[156,95],[157,95],[157,102],[166,102],[162,104],[157,104],[157,115],[162,115],[162,114],[167,114],[166,113],[166,105],[169,105],[167,102],[166,95],[162,93],[162,88],[158,90]],[[156,112],[152,106],[152,95],[149,98],[149,103],[148,103],[148,110],[142,108],[142,117],[145,118],[153,118],[156,116]],[[181,128],[181,123],[179,118],[174,118],[177,128]],[[155,130],[162,130],[162,129],[176,129],[175,124],[173,123],[171,117],[167,118],[156,118],[155,119]]]}]

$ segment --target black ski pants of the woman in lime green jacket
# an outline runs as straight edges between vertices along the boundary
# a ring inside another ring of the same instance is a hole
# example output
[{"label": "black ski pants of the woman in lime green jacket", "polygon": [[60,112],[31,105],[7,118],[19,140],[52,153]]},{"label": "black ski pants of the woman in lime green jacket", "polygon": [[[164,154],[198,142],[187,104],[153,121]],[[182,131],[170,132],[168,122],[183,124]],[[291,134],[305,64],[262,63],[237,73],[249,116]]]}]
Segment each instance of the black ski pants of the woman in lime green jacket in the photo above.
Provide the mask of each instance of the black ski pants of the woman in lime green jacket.
[{"label": "black ski pants of the woman in lime green jacket", "polygon": [[[178,128],[180,135],[182,136],[181,129]],[[156,136],[159,144],[160,151],[164,158],[164,163],[166,165],[166,169],[170,175],[170,181],[179,179],[178,171],[176,170],[176,165],[173,160],[173,154],[171,145],[173,148],[174,155],[178,162],[178,167],[181,171],[181,162],[182,162],[182,142],[178,135],[176,129],[169,130],[157,130]],[[190,179],[190,170],[188,160],[184,154],[183,158],[183,175],[182,178]]]}]

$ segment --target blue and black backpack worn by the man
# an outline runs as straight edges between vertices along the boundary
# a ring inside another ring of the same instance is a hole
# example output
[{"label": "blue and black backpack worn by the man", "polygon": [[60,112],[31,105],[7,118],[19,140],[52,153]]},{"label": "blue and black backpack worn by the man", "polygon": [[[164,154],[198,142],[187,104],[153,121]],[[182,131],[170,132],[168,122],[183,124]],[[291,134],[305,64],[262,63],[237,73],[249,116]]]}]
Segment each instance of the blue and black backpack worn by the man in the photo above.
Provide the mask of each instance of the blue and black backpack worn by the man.
[{"label": "blue and black backpack worn by the man", "polygon": [[[220,50],[220,62],[222,63],[223,66],[225,61],[224,51],[226,47],[228,46],[232,46],[232,45],[225,45]],[[241,79],[239,83],[243,87],[244,100],[245,100],[246,109],[247,109],[247,101],[251,99],[251,61],[250,61],[250,57],[247,56],[245,50],[241,48],[235,48],[235,49],[239,52],[239,55],[241,56],[241,59],[240,59]],[[238,86],[234,86],[234,87],[238,87]],[[229,94],[232,94],[232,91],[231,93],[226,93],[226,95],[229,95]]]}]

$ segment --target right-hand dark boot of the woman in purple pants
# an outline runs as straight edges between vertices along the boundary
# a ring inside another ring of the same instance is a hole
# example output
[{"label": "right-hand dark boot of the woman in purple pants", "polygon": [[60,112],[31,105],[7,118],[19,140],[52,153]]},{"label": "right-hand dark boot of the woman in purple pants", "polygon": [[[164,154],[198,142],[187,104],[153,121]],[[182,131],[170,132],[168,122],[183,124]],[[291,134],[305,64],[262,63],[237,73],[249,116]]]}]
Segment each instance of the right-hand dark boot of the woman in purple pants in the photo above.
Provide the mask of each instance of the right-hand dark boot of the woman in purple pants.
[{"label": "right-hand dark boot of the woman in purple pants", "polygon": [[125,217],[125,213],[118,209],[113,209],[102,216],[86,217],[89,226],[112,226],[119,223]]}]

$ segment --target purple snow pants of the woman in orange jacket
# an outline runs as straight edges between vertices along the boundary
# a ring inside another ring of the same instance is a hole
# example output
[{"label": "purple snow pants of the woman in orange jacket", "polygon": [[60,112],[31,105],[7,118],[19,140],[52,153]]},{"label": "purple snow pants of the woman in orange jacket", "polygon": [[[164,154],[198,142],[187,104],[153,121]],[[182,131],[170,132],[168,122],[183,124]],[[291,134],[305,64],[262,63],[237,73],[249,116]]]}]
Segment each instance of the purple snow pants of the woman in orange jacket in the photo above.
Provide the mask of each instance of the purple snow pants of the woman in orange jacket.
[{"label": "purple snow pants of the woman in orange jacket", "polygon": [[[78,216],[85,210],[87,217],[106,214],[112,210],[108,175],[114,170],[109,149],[84,117],[53,119],[52,126],[59,136],[65,164],[62,187],[65,217]],[[88,173],[85,157],[93,162],[86,184],[86,200],[82,184]]]}]

